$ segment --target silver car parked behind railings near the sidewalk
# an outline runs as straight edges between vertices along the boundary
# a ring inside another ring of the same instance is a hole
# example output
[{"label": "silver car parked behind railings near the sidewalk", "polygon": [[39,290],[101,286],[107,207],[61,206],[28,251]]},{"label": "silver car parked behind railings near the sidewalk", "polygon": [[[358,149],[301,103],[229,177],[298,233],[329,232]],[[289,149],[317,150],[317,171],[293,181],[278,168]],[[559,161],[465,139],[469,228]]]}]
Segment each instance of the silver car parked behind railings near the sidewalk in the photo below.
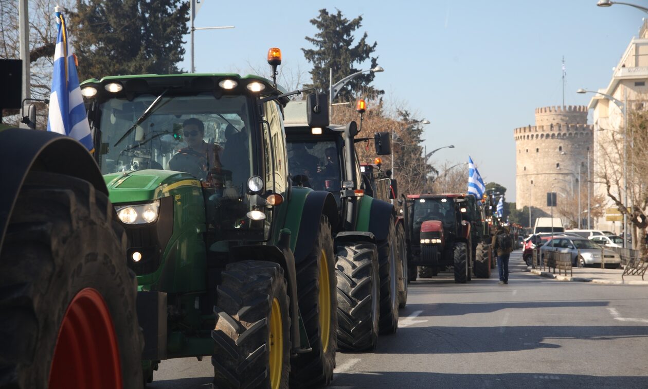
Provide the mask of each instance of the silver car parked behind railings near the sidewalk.
[{"label": "silver car parked behind railings near the sidewalk", "polygon": [[540,252],[548,251],[572,254],[572,266],[601,265],[601,256],[603,256],[606,267],[619,268],[621,266],[621,257],[618,253],[605,250],[589,239],[555,237],[540,248]]}]

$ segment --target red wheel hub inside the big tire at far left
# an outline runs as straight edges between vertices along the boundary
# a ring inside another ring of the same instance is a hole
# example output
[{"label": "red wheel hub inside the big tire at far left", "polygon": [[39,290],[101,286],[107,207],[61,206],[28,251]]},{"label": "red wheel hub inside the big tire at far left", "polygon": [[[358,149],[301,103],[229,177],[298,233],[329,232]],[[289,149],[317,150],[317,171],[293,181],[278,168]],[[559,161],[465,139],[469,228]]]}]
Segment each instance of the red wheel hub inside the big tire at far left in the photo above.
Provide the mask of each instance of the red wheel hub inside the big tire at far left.
[{"label": "red wheel hub inside the big tire at far left", "polygon": [[49,388],[122,388],[115,327],[106,301],[95,289],[80,290],[67,307],[56,339]]}]

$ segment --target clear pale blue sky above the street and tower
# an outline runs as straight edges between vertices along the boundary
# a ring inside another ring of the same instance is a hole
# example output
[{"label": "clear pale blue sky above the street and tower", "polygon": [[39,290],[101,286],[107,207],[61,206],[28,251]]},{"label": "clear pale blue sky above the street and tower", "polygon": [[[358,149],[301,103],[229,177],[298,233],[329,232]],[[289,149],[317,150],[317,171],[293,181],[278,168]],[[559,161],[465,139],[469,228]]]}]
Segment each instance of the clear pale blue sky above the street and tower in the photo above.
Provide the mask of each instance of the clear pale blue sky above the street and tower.
[{"label": "clear pale blue sky above the street and tower", "polygon": [[[385,69],[376,74],[376,88],[432,122],[423,136],[428,150],[455,145],[433,161],[459,163],[472,156],[484,181],[507,187],[511,202],[513,129],[535,124],[535,108],[562,104],[562,56],[565,104],[586,105],[590,96],[575,90],[607,86],[612,67],[648,16],[625,5],[598,7],[597,0],[202,1],[196,27],[236,28],[196,32],[199,72],[265,71],[269,47],[281,48],[286,69],[307,72],[301,48],[309,48],[304,38],[317,32],[309,20],[319,9],[338,8],[348,19],[362,15],[356,36],[367,32],[369,42],[378,42],[375,53]],[[181,66],[188,70],[189,43],[186,49]]]}]

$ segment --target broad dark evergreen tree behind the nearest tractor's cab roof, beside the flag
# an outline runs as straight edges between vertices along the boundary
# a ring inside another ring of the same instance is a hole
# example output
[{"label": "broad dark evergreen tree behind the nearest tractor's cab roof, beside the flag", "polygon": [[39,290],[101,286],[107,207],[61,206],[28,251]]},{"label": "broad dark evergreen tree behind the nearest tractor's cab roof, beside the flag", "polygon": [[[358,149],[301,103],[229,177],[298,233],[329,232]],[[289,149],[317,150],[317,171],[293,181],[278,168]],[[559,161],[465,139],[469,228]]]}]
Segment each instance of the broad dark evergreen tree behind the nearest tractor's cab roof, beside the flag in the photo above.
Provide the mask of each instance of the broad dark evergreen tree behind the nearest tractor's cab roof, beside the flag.
[{"label": "broad dark evergreen tree behind the nearest tractor's cab roof, beside the flag", "polygon": [[178,73],[189,3],[180,0],[78,0],[69,18],[79,78]]}]

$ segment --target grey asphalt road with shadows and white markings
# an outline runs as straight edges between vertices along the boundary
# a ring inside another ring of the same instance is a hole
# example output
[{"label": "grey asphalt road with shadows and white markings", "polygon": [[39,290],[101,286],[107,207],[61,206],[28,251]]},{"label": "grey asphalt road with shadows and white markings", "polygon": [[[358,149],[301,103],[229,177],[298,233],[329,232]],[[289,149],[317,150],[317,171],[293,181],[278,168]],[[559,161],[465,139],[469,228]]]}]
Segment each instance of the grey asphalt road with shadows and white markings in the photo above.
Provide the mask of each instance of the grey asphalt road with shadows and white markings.
[{"label": "grey asphalt road with shadows and white markings", "polygon": [[[399,331],[338,353],[332,388],[648,388],[648,287],[561,282],[410,283]],[[209,358],[163,361],[151,388],[209,388]]]}]

